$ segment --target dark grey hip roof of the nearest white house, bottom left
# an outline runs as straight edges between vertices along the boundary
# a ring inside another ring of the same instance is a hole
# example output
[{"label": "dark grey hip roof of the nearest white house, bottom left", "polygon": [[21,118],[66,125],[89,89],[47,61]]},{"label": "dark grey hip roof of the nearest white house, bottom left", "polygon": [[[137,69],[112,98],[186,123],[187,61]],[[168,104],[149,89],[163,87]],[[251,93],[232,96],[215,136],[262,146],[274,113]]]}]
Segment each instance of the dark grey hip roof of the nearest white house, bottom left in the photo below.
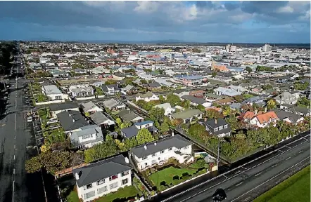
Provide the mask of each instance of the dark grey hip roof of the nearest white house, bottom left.
[{"label": "dark grey hip roof of the nearest white house, bottom left", "polygon": [[77,185],[83,187],[92,182],[105,179],[112,175],[131,170],[129,163],[125,162],[125,157],[122,155],[112,157],[96,163],[91,163],[88,166],[72,170],[73,175],[80,175],[77,180]]}]

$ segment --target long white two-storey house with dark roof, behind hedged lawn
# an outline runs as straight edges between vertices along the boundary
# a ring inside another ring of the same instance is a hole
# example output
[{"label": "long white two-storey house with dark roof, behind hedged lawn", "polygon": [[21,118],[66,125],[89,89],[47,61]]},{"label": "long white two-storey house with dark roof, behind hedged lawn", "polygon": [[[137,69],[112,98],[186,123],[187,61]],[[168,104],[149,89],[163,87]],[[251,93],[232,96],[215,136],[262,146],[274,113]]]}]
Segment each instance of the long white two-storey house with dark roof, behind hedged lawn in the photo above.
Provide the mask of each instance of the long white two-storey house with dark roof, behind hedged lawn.
[{"label": "long white two-storey house with dark roof, behind hedged lawn", "polygon": [[140,145],[129,150],[129,156],[139,170],[161,165],[169,159],[179,163],[192,162],[192,142],[180,135],[172,135],[155,142]]}]

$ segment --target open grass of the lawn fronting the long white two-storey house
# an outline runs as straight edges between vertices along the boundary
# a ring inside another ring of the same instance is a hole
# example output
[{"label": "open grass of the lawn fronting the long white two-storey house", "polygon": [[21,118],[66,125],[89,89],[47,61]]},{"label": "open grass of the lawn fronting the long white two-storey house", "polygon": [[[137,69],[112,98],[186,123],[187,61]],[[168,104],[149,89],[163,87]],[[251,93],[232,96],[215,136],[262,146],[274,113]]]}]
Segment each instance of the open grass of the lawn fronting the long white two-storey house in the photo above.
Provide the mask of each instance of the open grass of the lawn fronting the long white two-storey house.
[{"label": "open grass of the lawn fronting the long white two-storey house", "polygon": [[165,168],[163,170],[160,170],[158,172],[153,173],[149,176],[150,180],[155,184],[156,187],[160,187],[160,183],[165,181],[166,184],[170,184],[173,182],[173,177],[175,175],[178,175],[179,177],[182,177],[183,173],[188,173],[189,175],[193,175],[193,173],[196,173],[198,169],[189,169],[189,168],[174,168],[169,167]]}]

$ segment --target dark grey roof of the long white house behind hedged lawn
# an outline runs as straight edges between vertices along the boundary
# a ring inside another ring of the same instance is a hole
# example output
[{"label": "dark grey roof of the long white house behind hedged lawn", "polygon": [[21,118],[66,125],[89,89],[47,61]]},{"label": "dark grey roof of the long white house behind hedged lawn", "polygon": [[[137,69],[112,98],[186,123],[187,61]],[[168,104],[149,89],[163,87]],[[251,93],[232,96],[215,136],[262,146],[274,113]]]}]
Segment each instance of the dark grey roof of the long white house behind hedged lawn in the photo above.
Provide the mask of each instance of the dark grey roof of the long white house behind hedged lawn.
[{"label": "dark grey roof of the long white house behind hedged lawn", "polygon": [[[156,145],[155,145],[155,142],[156,142]],[[189,140],[186,140],[184,137],[180,135],[174,135],[172,137],[167,137],[162,140],[155,141],[155,142],[150,142],[148,144],[143,144],[138,147],[134,147],[130,149],[130,152],[135,154],[135,156],[137,156],[138,158],[141,158],[144,156],[154,154],[156,152],[160,152],[163,149],[169,149],[171,147],[177,147],[181,149],[182,147],[186,147],[186,146],[193,144],[192,142],[190,142]],[[145,145],[147,149],[144,148]]]}]

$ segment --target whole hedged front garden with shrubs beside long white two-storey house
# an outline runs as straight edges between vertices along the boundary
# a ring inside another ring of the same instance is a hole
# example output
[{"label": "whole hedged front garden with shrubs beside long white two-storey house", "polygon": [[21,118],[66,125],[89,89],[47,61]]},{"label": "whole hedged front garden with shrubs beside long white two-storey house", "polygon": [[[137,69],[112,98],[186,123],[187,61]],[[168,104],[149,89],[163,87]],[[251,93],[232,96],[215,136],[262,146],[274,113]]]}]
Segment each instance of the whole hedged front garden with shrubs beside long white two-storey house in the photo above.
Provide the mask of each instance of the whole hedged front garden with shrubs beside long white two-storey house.
[{"label": "whole hedged front garden with shrubs beside long white two-storey house", "polygon": [[[163,191],[192,177],[206,173],[207,168],[208,163],[205,163],[203,159],[198,159],[196,163],[192,163],[184,168],[179,168],[179,166],[174,164],[159,168],[157,172],[154,172],[151,168],[151,175],[148,177],[158,190]],[[148,171],[146,173],[148,175]]]}]

